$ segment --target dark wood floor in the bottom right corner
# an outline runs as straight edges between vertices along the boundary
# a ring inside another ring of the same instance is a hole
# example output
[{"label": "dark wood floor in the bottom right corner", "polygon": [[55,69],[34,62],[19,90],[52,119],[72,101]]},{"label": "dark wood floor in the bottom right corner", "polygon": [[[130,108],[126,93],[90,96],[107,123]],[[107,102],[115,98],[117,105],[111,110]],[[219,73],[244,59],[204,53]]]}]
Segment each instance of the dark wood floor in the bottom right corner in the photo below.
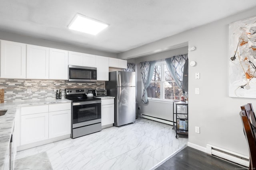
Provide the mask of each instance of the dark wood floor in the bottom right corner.
[{"label": "dark wood floor in the bottom right corner", "polygon": [[156,170],[245,170],[230,162],[186,147],[159,166]]}]

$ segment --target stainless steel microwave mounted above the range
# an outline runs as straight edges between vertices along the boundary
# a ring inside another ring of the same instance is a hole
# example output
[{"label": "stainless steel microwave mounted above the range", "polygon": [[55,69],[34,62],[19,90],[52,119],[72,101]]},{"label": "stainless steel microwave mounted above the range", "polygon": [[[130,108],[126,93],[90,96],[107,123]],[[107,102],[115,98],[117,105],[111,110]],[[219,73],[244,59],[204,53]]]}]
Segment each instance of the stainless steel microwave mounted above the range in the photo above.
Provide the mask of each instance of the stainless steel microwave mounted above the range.
[{"label": "stainless steel microwave mounted above the range", "polygon": [[97,68],[68,65],[68,80],[70,82],[96,82]]}]

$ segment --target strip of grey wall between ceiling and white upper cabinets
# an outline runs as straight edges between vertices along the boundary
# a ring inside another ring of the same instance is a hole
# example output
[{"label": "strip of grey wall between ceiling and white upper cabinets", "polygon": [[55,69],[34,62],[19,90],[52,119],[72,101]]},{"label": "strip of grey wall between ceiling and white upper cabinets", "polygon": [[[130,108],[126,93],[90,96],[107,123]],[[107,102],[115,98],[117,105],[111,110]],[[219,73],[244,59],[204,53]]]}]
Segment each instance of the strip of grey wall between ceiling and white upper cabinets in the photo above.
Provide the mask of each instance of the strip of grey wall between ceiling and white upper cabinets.
[{"label": "strip of grey wall between ceiling and white upper cabinets", "polygon": [[109,52],[100,51],[100,50],[96,50],[96,49],[85,48],[85,47],[82,47],[82,45],[81,46],[70,45],[68,43],[62,43],[62,42],[59,42],[59,41],[49,41],[49,40],[46,40],[46,39],[40,39],[40,38],[36,38],[36,37],[20,35],[20,34],[17,34],[17,33],[9,33],[9,32],[6,32],[6,31],[0,31],[0,39],[19,42],[19,43],[39,45],[39,46],[43,46],[43,47],[64,49],[64,50],[68,50],[68,51],[77,51],[77,52],[81,52],[81,53],[87,53],[87,54],[101,55],[101,56],[105,56],[105,57],[116,58],[115,53],[109,53]]}]

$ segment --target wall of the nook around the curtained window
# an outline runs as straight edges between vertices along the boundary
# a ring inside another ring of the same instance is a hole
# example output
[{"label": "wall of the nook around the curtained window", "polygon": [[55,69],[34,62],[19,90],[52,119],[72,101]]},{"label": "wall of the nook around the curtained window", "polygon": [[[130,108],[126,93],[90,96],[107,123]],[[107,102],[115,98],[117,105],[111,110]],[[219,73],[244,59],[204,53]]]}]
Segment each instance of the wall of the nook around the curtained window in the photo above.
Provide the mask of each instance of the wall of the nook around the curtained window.
[{"label": "wall of the nook around the curtained window", "polygon": [[140,74],[140,62],[143,61],[155,61],[155,60],[164,60],[166,58],[170,58],[174,55],[187,54],[188,47],[182,47],[178,49],[173,49],[169,51],[164,51],[161,53],[156,53],[144,57],[139,57],[135,59],[136,64],[136,74],[137,74],[137,97],[136,101],[140,106],[140,113],[145,115],[149,115],[152,117],[157,117],[160,119],[166,119],[169,121],[173,121],[173,109],[172,102],[159,102],[154,100],[149,100],[148,104],[143,104],[141,102],[141,94],[142,94],[142,82],[141,82],[141,74]]}]

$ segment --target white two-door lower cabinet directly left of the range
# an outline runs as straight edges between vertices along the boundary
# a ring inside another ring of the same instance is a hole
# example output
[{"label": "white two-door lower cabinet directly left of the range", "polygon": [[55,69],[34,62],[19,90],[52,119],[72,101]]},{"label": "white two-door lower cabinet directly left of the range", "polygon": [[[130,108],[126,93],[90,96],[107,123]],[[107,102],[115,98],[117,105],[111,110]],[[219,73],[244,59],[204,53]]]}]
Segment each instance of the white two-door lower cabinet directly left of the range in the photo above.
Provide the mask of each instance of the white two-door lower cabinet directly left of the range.
[{"label": "white two-door lower cabinet directly left of the range", "polygon": [[20,110],[20,145],[71,133],[70,103],[21,107]]}]

